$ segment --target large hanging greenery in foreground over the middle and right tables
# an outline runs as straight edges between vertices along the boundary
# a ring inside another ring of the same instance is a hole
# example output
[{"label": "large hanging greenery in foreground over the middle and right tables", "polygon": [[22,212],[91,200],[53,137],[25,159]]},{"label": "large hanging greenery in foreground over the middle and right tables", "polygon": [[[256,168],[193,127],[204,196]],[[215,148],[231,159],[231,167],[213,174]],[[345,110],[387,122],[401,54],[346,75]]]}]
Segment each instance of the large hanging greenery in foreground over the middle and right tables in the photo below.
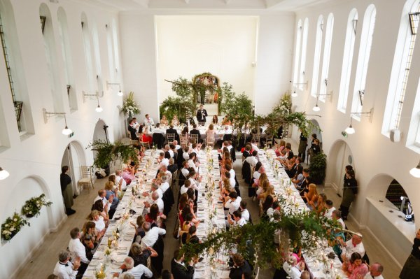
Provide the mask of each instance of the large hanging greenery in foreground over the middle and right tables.
[{"label": "large hanging greenery in foreground over the middle and right tables", "polygon": [[[237,253],[261,268],[272,265],[280,268],[288,258],[291,250],[302,249],[307,255],[314,254],[319,243],[332,241],[334,235],[330,230],[339,229],[337,221],[319,217],[312,211],[294,213],[291,203],[279,197],[281,203],[281,220],[268,222],[261,220],[258,224],[245,224],[243,227],[231,227],[229,231],[211,232],[201,243],[183,245],[181,252],[186,258],[197,255],[214,255],[217,251],[237,250]],[[279,248],[273,245],[273,238],[279,232]]]}]

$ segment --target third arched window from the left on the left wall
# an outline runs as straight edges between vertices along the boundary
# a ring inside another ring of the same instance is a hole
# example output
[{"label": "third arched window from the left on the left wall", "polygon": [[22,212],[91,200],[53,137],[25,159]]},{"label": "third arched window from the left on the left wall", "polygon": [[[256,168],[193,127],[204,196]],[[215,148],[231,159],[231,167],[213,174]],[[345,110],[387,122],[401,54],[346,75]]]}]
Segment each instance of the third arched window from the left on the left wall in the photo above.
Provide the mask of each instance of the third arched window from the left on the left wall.
[{"label": "third arched window from the left on the left wall", "polygon": [[70,110],[77,109],[76,90],[74,90],[73,80],[73,60],[71,59],[69,27],[67,25],[67,15],[62,7],[58,8],[58,34],[64,62],[64,79],[66,82],[66,92],[69,99]]}]

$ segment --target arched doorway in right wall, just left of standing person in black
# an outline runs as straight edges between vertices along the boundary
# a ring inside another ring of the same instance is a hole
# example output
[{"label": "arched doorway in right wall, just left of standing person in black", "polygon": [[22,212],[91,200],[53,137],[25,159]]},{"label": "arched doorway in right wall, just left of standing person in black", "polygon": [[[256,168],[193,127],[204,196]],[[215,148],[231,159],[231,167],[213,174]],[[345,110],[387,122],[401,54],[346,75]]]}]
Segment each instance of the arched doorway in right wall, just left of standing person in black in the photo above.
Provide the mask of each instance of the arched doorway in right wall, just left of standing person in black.
[{"label": "arched doorway in right wall, just left of standing person in black", "polygon": [[338,140],[332,145],[330,152],[328,152],[325,184],[334,187],[340,195],[343,194],[343,178],[347,165],[353,166],[353,169],[357,173],[349,145],[345,141]]}]

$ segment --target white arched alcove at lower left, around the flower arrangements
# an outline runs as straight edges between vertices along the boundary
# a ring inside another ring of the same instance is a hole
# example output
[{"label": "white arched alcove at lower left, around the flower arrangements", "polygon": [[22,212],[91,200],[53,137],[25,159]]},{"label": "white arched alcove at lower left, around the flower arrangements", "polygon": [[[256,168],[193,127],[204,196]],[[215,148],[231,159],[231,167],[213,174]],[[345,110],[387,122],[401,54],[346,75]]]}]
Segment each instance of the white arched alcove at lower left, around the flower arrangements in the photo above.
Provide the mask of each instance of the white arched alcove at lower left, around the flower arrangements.
[{"label": "white arched alcove at lower left, around the flower arrangements", "polygon": [[[50,199],[50,191],[43,178],[38,176],[28,176],[20,180],[19,183],[12,186],[10,195],[3,205],[1,212],[1,221],[13,215],[16,211],[20,213],[25,201],[34,196],[45,194]],[[48,236],[50,227],[52,226],[52,207],[59,206],[52,204],[50,207],[41,208],[38,217],[31,217],[28,221],[31,226],[22,227],[10,242],[2,242],[0,248],[0,278],[10,278],[10,275],[18,270],[22,262],[27,261],[27,257],[31,255],[31,251],[38,248],[42,243],[44,236]]]}]

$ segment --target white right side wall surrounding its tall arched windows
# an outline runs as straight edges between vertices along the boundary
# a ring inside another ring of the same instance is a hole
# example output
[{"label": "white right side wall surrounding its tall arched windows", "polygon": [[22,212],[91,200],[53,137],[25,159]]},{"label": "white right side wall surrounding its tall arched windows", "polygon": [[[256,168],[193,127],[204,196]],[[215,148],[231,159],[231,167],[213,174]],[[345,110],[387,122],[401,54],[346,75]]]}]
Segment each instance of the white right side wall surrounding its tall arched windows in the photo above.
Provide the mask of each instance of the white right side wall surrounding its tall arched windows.
[{"label": "white right side wall surrounding its tall arched windows", "polygon": [[[372,122],[369,117],[362,117],[361,121],[353,120],[353,127],[356,134],[343,138],[341,131],[349,126],[351,101],[353,99],[354,76],[356,73],[356,63],[360,45],[360,34],[363,26],[363,16],[365,9],[373,3],[377,8],[376,25],[374,29],[372,50],[370,55],[369,68],[367,70],[367,80],[365,86],[365,101],[363,112],[374,108]],[[374,215],[374,218],[368,217],[368,213],[374,213],[372,204],[368,206],[366,197],[375,196],[375,198],[384,198],[389,183],[381,180],[382,173],[386,173],[391,178],[395,178],[404,187],[414,208],[414,212],[420,208],[419,179],[409,175],[409,169],[416,166],[419,161],[419,154],[405,147],[407,138],[409,120],[413,109],[414,95],[419,83],[420,73],[420,45],[417,40],[416,50],[412,58],[412,68],[407,84],[407,92],[405,103],[402,110],[402,121],[400,129],[402,131],[402,140],[400,143],[391,143],[391,141],[381,134],[381,127],[386,103],[386,94],[388,92],[389,78],[391,77],[391,67],[394,59],[395,44],[400,27],[402,14],[402,6],[405,1],[334,1],[334,5],[330,3],[319,4],[311,7],[311,9],[300,10],[296,15],[296,24],[298,20],[309,18],[309,41],[308,41],[308,60],[307,60],[307,77],[312,76],[314,43],[316,35],[316,26],[314,25],[319,15],[323,15],[324,19],[328,13],[333,13],[335,17],[334,31],[332,34],[332,50],[330,58],[330,74],[328,76],[328,93],[333,91],[332,99],[325,103],[319,102],[321,111],[317,114],[321,118],[316,118],[323,129],[323,150],[328,156],[328,171],[334,172],[335,160],[337,154],[332,149],[332,145],[338,140],[344,140],[349,145],[353,155],[353,165],[356,166],[356,179],[359,185],[359,194],[356,202],[351,208],[351,217],[360,224],[360,227],[375,226],[375,222],[386,222],[381,214]],[[337,110],[337,100],[339,92],[339,82],[341,78],[341,69],[343,61],[344,39],[346,34],[346,20],[352,8],[358,10],[359,20],[356,32],[356,43],[353,55],[353,66],[351,70],[351,80],[349,88],[349,98],[346,113]],[[324,21],[325,22],[325,21]],[[325,24],[324,24],[325,27]],[[325,36],[325,35],[324,35]],[[322,57],[321,57],[322,61]],[[312,81],[309,78],[309,88]],[[309,96],[309,92],[299,92],[299,97],[295,100],[297,110],[312,113],[311,108],[315,105],[316,99]],[[337,151],[337,150],[335,150]],[[335,178],[336,177],[336,178]],[[326,183],[341,185],[342,181],[337,181],[338,176],[328,176]],[[342,178],[340,178],[342,179]],[[339,206],[339,205],[335,205]],[[390,224],[392,226],[392,224]],[[389,239],[398,241],[399,238],[414,238],[414,224],[406,227],[398,227],[394,224],[394,228],[388,231],[382,231],[378,234],[378,239],[384,245],[387,245]],[[416,227],[420,227],[420,218],[416,219]],[[409,230],[407,232],[407,229]],[[377,228],[370,228],[376,232]],[[400,235],[395,237],[395,231],[400,230]],[[406,255],[409,254],[410,247],[406,241],[398,242],[402,245]],[[391,247],[388,247],[389,251]],[[402,259],[403,261],[403,259]],[[401,264],[399,262],[398,264]]]}]

